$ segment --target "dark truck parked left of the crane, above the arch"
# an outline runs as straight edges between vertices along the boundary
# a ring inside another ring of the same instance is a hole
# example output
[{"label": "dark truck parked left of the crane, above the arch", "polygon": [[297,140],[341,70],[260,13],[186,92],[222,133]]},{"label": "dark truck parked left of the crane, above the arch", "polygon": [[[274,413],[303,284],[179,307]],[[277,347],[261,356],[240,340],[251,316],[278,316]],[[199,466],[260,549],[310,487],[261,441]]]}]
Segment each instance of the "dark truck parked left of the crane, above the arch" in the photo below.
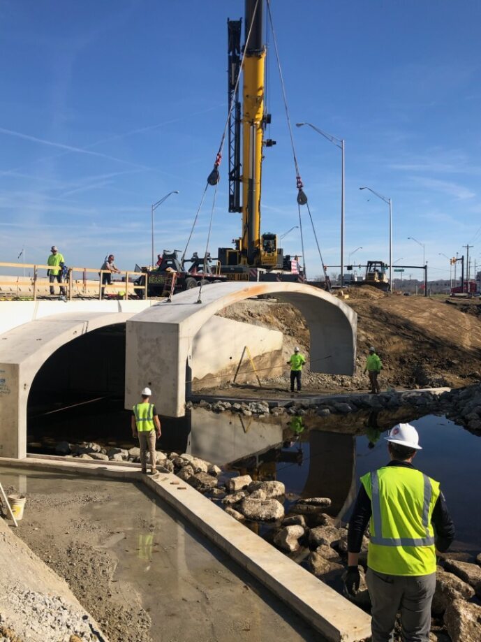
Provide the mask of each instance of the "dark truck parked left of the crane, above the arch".
[{"label": "dark truck parked left of the crane, above the arch", "polygon": [[[164,250],[160,264],[154,268],[143,267],[139,271],[143,274],[138,277],[137,284],[145,285],[147,279],[147,296],[170,296],[184,290],[190,290],[200,284],[223,283],[224,275],[219,274],[219,265],[212,268],[212,258],[207,254],[205,260],[194,252],[191,258],[182,259],[178,256],[179,250]],[[186,263],[190,267],[186,269]],[[143,293],[143,291],[140,291]],[[141,297],[142,298],[142,297]]]}]

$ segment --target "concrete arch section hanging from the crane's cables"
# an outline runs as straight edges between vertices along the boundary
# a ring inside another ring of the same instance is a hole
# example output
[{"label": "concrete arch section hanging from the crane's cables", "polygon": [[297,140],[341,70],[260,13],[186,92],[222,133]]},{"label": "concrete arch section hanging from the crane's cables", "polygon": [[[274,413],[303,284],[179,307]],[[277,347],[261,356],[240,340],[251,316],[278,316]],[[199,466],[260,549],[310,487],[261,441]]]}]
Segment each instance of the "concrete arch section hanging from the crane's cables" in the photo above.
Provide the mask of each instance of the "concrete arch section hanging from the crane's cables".
[{"label": "concrete arch section hanging from the crane's cables", "polygon": [[[239,301],[273,295],[291,303],[309,326],[312,372],[355,372],[357,314],[323,290],[295,283],[232,282],[177,294],[136,314],[126,325],[126,408],[144,386],[152,389],[160,414],[185,414],[186,384],[192,366],[193,340],[217,312]],[[216,335],[212,335],[216,351]]]}]

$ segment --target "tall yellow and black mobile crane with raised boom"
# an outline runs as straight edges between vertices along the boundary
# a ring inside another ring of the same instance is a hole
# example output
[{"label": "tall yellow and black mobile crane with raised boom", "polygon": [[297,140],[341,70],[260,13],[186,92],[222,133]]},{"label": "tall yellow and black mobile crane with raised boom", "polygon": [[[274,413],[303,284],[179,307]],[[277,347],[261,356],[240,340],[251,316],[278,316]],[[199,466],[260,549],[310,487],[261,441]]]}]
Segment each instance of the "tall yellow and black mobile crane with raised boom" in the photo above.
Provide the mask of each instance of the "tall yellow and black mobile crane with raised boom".
[{"label": "tall yellow and black mobile crane with raised boom", "polygon": [[[262,41],[265,0],[246,0],[242,20],[228,20],[229,212],[242,214],[242,236],[219,247],[221,274],[228,280],[302,280],[297,256],[284,256],[275,233],[260,232],[262,160],[271,115],[265,112],[266,48]],[[242,56],[244,64],[242,65]],[[242,72],[242,101],[239,74]]]}]

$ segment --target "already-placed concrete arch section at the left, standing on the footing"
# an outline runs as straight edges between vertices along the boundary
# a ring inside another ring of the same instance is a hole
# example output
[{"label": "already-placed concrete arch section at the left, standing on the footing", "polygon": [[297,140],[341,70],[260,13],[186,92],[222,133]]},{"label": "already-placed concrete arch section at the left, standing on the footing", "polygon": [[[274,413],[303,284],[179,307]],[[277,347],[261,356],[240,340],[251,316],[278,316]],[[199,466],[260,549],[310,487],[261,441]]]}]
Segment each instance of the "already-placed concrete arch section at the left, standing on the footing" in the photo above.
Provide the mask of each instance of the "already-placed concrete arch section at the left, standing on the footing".
[{"label": "already-placed concrete arch section at the left, standing on the footing", "polygon": [[34,378],[64,344],[98,328],[126,323],[134,312],[66,312],[0,335],[0,456],[27,454],[27,403]]}]

